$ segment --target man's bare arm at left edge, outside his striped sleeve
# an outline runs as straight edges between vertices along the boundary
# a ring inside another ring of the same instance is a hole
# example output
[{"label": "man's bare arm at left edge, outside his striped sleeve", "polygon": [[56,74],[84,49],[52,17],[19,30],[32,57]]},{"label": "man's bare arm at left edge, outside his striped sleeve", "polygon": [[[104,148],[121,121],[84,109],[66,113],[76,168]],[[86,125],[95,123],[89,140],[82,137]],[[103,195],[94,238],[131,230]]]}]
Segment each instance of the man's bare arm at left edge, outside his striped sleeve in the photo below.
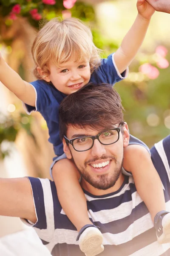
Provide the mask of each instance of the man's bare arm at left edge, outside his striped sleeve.
[{"label": "man's bare arm at left edge, outside his striped sleeve", "polygon": [[28,178],[0,178],[0,215],[37,221]]}]

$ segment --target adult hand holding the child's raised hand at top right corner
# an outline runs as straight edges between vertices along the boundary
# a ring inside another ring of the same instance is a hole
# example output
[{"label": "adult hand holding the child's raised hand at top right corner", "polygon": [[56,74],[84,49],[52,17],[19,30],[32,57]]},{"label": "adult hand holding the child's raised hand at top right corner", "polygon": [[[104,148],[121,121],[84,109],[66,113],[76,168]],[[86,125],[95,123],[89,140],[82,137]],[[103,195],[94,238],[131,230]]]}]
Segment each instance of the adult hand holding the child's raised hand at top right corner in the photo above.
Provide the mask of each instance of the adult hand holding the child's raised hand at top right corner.
[{"label": "adult hand holding the child's raised hand at top right corner", "polygon": [[146,0],[157,12],[170,13],[170,0]]}]

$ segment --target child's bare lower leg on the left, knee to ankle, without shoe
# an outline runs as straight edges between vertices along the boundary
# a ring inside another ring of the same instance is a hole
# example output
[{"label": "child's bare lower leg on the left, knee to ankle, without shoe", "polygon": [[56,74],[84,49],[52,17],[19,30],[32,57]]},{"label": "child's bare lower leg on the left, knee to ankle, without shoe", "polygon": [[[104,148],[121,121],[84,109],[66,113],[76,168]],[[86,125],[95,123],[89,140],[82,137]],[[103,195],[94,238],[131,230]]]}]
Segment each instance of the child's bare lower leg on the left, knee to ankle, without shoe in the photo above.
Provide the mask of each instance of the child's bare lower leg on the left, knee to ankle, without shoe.
[{"label": "child's bare lower leg on the left, knee to ankle, without shoe", "polygon": [[85,194],[79,184],[80,174],[74,163],[67,158],[57,161],[53,166],[52,175],[59,202],[77,231],[86,224],[92,224],[88,217]]}]

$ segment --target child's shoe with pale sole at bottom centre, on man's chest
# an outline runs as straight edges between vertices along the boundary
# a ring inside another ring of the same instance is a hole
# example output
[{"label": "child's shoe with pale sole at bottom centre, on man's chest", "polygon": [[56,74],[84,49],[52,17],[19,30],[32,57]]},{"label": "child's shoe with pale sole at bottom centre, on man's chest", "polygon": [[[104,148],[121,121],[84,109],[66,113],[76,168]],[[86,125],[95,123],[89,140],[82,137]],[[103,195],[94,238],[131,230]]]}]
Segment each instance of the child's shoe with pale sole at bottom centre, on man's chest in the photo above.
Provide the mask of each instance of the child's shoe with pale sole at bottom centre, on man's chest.
[{"label": "child's shoe with pale sole at bottom centre, on man's chest", "polygon": [[95,256],[104,250],[102,233],[95,225],[88,224],[82,227],[77,236],[78,240],[80,250],[85,256]]}]

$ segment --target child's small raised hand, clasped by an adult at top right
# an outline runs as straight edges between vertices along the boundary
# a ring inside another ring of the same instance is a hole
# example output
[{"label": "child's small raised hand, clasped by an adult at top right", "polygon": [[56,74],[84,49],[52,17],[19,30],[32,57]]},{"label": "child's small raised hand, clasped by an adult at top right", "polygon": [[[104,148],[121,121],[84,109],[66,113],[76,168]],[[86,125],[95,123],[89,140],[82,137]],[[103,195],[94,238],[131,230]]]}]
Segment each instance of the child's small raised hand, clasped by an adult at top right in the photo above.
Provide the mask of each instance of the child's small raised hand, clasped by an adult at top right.
[{"label": "child's small raised hand, clasped by an adult at top right", "polygon": [[136,6],[139,15],[146,20],[150,20],[155,12],[155,9],[146,0],[138,0]]}]

